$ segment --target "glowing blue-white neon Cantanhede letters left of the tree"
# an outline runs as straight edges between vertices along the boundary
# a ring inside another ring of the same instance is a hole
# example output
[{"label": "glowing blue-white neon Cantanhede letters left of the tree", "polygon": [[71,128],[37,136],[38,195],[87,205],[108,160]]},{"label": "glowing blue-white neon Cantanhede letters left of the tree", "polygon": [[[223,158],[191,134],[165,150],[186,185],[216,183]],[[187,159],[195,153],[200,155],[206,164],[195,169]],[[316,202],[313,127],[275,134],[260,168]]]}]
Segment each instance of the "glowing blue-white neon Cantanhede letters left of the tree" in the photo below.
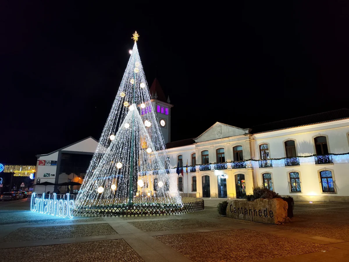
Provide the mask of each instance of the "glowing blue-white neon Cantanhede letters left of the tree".
[{"label": "glowing blue-white neon Cantanhede letters left of the tree", "polygon": [[31,194],[30,211],[40,212],[58,217],[73,218],[74,201],[69,199],[57,199],[57,195],[53,194],[52,199],[45,199],[45,193],[42,197],[37,197],[36,193]]}]

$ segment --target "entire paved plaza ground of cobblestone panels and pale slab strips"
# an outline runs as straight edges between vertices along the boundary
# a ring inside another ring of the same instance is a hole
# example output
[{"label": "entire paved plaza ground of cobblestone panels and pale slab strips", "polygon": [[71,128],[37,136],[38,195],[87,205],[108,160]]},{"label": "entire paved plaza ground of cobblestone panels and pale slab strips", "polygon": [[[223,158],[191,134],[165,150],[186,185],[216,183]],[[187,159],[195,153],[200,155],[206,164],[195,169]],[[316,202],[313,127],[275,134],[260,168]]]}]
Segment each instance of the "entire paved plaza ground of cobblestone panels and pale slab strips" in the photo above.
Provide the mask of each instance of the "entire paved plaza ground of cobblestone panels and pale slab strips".
[{"label": "entire paved plaza ground of cobblestone panels and pale slab strips", "polygon": [[349,261],[349,203],[296,202],[283,225],[205,210],[161,217],[58,218],[0,203],[0,261]]}]

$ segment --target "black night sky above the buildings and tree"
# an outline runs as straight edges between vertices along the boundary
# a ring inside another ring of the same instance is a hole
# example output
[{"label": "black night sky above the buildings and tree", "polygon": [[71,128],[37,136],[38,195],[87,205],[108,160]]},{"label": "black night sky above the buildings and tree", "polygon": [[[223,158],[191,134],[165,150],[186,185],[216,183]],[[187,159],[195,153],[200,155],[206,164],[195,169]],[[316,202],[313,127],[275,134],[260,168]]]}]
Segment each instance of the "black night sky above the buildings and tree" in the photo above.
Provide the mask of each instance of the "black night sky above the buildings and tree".
[{"label": "black night sky above the buildings and tree", "polygon": [[99,139],[135,30],[149,86],[157,77],[174,105],[172,141],[216,121],[250,128],[349,107],[346,1],[8,2],[0,163]]}]

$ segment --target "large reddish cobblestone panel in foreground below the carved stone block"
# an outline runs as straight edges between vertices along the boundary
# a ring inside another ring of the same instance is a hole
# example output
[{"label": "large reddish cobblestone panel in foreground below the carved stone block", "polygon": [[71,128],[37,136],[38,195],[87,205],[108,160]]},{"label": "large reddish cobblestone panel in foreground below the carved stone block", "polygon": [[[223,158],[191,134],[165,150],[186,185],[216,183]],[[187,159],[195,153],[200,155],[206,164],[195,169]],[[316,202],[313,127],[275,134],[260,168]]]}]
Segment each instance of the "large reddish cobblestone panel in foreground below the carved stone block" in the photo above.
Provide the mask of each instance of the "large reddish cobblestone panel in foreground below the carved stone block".
[{"label": "large reddish cobblestone panel in foreground below the carved stone block", "polygon": [[[334,249],[245,229],[164,235],[156,238],[197,262],[248,262]],[[247,239],[250,241],[246,241]]]}]

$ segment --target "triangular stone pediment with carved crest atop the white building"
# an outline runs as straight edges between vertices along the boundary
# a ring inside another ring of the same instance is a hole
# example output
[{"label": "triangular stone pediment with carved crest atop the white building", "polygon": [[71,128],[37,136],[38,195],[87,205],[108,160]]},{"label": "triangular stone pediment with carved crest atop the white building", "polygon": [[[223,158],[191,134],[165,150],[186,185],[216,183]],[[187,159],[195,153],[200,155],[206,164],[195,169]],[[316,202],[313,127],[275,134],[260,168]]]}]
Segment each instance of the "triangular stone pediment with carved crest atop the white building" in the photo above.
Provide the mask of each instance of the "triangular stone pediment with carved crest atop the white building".
[{"label": "triangular stone pediment with carved crest atop the white building", "polygon": [[248,134],[248,131],[249,129],[237,128],[236,126],[216,122],[194,140],[196,143],[199,143],[227,137],[243,136]]}]

